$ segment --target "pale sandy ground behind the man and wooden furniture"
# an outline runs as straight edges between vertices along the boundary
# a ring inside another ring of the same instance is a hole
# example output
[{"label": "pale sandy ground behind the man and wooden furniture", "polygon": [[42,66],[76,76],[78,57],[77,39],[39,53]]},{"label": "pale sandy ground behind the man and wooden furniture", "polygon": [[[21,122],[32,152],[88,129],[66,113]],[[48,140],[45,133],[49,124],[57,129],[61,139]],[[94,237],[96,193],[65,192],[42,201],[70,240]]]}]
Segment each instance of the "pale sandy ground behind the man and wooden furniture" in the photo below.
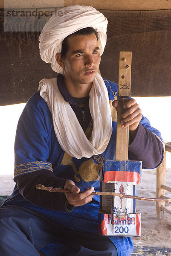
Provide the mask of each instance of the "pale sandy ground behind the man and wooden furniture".
[{"label": "pale sandy ground behind the man and wooden furniture", "polygon": [[[171,169],[167,169],[166,186],[171,186]],[[0,175],[0,195],[10,195],[14,181],[12,175]],[[137,186],[139,196],[155,197],[156,170],[142,170],[142,183]],[[171,197],[170,192],[166,195]],[[168,204],[167,204],[168,205]],[[133,238],[133,243],[139,246],[171,248],[171,215],[164,213],[164,218],[159,221],[156,215],[154,202],[136,201],[136,212],[142,214],[141,237]]]}]

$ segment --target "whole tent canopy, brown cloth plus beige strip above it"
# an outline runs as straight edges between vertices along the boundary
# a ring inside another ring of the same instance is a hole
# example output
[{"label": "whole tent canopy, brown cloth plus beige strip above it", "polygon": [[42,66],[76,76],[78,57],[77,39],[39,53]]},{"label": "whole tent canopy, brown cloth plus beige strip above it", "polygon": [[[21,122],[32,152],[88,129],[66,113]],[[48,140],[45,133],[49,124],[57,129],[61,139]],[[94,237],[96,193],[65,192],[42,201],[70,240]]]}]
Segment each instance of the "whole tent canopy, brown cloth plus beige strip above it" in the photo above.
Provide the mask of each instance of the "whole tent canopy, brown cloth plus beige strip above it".
[{"label": "whole tent canopy, brown cloth plus beige strip above it", "polygon": [[117,83],[119,51],[131,51],[131,95],[171,96],[171,1],[0,0],[0,105],[26,102],[36,92],[38,81],[56,76],[51,65],[41,60],[38,48],[39,34],[49,17],[19,17],[20,10],[47,14],[70,4],[93,6],[108,19],[100,64],[103,77]]}]

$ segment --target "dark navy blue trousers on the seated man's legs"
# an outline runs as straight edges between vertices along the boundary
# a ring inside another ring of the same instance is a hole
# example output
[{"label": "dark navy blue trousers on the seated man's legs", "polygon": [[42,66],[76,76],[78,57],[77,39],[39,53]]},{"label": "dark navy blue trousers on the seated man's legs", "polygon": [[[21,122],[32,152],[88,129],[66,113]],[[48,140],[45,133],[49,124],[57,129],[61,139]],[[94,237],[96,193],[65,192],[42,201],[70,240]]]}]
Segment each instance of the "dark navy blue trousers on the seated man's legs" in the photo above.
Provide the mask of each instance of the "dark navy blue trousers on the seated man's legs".
[{"label": "dark navy blue trousers on the seated man's legs", "polygon": [[106,236],[63,227],[39,213],[8,205],[0,207],[0,255],[2,256],[117,256]]}]

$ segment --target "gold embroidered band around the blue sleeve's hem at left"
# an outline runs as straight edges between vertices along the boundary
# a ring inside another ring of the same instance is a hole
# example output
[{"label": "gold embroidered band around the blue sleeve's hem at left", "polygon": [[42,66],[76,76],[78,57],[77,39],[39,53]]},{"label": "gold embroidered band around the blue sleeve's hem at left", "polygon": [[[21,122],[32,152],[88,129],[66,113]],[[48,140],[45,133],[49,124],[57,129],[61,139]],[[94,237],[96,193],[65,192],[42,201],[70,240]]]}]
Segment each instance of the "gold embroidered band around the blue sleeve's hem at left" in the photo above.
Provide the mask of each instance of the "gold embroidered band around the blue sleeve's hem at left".
[{"label": "gold embroidered band around the blue sleeve's hem at left", "polygon": [[43,161],[36,161],[32,163],[20,163],[19,165],[14,166],[14,177],[17,177],[21,174],[26,174],[30,172],[34,172],[40,169],[48,169],[53,172],[52,164]]}]

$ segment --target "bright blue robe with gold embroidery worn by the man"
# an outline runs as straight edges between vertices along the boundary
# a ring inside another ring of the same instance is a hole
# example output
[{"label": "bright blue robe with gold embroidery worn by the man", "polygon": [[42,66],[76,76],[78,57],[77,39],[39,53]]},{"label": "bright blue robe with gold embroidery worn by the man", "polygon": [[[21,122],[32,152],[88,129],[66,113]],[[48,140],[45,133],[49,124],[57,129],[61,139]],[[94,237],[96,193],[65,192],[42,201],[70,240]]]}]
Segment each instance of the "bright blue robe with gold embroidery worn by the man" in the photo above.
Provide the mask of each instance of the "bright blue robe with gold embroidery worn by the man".
[{"label": "bright blue robe with gold embroidery worn by the man", "polygon": [[[114,160],[116,150],[116,110],[112,107],[111,102],[116,99],[118,86],[106,79],[104,81],[109,94],[113,132],[103,154],[76,159],[65,153],[56,139],[49,108],[38,91],[27,102],[17,126],[14,177],[40,169],[48,169],[58,177],[73,180],[81,190],[94,186],[95,191],[99,191],[99,163],[105,159]],[[141,124],[161,137],[159,131],[152,128],[144,116]],[[86,131],[87,137],[90,136],[91,129],[92,123]],[[72,212],[59,212],[29,203],[15,186],[12,198],[5,201],[3,205],[8,204],[33,209],[72,230],[98,233],[98,195],[95,195],[90,203],[75,207]],[[133,250],[131,237],[110,236],[110,239],[117,248],[118,256],[130,255]],[[48,255],[47,250],[46,254]]]}]

